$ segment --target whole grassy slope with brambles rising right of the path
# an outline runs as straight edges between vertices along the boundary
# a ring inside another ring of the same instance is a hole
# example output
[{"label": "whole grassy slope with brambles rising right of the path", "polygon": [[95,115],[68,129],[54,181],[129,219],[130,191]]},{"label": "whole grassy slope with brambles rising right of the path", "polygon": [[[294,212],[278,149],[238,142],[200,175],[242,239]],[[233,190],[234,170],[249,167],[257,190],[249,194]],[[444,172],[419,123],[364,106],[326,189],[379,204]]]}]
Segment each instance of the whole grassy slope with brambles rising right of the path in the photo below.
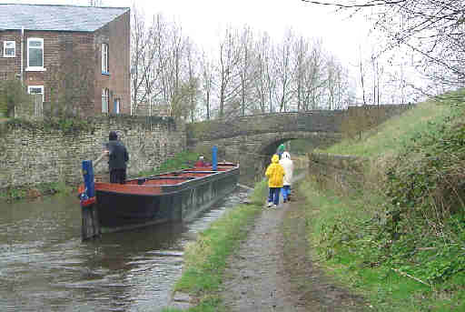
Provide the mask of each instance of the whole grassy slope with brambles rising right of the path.
[{"label": "whole grassy slope with brambles rising right of the path", "polygon": [[376,311],[465,311],[464,93],[420,104],[324,153],[370,157],[358,189],[309,176],[307,235],[322,266]]}]

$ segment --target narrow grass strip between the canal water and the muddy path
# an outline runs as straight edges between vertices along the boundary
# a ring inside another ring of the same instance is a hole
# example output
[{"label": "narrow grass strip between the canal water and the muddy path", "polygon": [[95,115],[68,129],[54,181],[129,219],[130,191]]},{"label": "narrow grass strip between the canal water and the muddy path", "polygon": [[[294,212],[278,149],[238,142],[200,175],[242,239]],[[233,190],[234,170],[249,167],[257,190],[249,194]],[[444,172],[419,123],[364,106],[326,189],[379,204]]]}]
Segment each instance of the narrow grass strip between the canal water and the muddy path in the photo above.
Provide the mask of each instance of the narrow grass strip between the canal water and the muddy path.
[{"label": "narrow grass strip between the canal water and the muddy path", "polygon": [[[256,184],[249,205],[237,206],[203,231],[185,249],[183,276],[174,287],[196,298],[197,306],[189,311],[223,311],[218,291],[223,281],[227,258],[247,237],[250,226],[262,211],[267,195],[265,182]],[[180,311],[166,308],[164,312]]]}]

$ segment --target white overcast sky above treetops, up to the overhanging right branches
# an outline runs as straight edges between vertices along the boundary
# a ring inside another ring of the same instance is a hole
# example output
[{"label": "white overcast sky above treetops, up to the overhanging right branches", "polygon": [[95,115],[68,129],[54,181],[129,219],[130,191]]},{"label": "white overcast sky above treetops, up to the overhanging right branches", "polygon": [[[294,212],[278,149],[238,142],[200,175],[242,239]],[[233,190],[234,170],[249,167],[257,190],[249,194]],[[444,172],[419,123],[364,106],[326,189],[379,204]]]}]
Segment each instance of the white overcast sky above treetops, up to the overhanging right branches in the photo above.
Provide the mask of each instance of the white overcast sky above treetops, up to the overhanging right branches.
[{"label": "white overcast sky above treetops, up to the overhanging right branches", "polygon": [[[88,0],[0,0],[9,4],[88,5]],[[103,6],[133,5],[146,18],[162,13],[174,20],[183,32],[206,51],[216,47],[226,25],[266,31],[279,42],[290,27],[298,35],[322,38],[323,46],[346,67],[357,63],[359,46],[370,53],[367,41],[370,25],[362,16],[348,19],[328,6],[310,5],[301,0],[103,0]]]}]

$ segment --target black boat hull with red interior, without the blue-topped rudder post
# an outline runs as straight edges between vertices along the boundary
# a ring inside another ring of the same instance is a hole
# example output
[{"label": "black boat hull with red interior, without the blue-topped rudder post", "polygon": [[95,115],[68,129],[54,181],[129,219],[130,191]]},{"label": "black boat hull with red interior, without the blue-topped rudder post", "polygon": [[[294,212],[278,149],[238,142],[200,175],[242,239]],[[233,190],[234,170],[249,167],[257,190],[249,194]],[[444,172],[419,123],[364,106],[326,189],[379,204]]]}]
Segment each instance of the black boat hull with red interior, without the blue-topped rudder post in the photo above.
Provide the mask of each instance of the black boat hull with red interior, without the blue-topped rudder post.
[{"label": "black boat hull with red interior, without the blue-topped rudder post", "polygon": [[[193,176],[190,174],[190,170],[183,170],[138,178],[128,181],[127,186],[96,184],[94,206],[102,232],[190,221],[234,190],[239,166],[225,167],[218,172],[195,168]],[[175,175],[184,180],[181,183],[164,183],[167,176]],[[143,191],[138,191],[142,187]],[[145,188],[152,189],[152,192]]]}]

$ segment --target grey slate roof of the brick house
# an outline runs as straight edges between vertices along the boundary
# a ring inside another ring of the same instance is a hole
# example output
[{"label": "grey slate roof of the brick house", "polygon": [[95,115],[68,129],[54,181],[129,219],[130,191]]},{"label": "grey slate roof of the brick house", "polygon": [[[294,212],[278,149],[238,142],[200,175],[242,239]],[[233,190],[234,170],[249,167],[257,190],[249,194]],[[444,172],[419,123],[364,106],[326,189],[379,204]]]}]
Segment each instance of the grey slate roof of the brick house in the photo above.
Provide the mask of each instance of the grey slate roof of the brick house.
[{"label": "grey slate roof of the brick house", "polygon": [[128,7],[0,4],[0,29],[94,32],[127,11]]}]

